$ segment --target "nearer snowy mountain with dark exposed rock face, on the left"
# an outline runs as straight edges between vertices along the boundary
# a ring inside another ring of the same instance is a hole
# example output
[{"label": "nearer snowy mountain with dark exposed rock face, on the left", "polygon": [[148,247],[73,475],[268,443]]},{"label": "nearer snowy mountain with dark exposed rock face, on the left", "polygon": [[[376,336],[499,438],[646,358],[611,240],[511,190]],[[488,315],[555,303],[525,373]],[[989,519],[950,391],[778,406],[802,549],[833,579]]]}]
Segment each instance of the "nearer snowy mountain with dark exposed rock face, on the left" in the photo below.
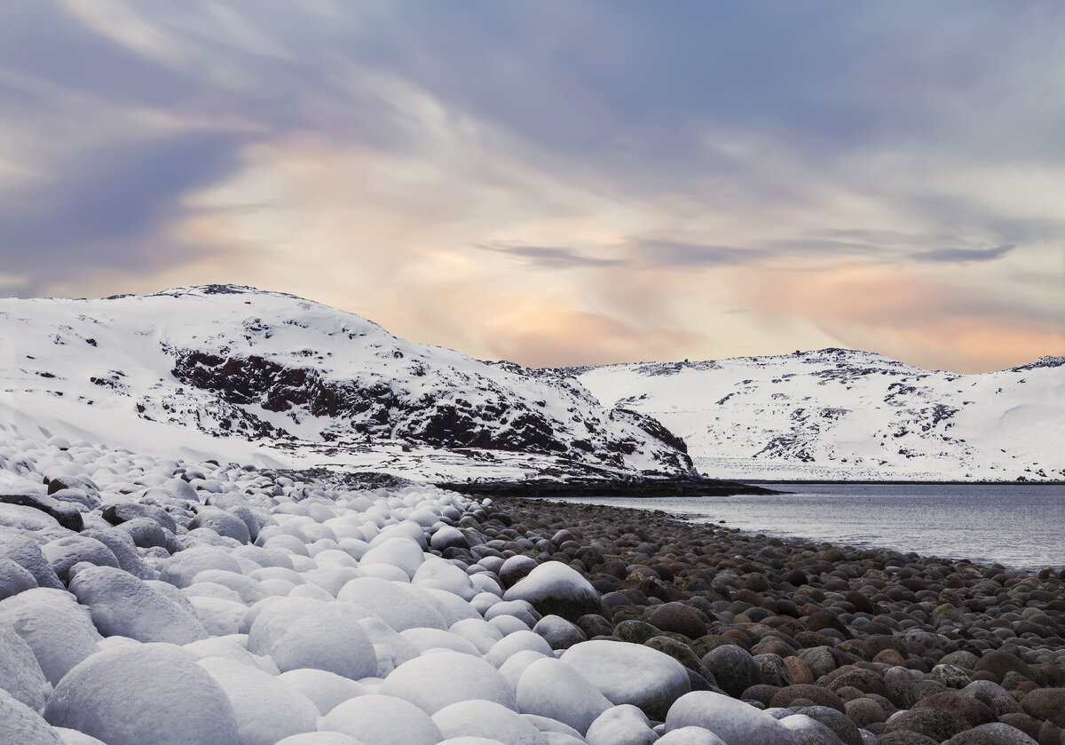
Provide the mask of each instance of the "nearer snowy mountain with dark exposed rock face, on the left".
[{"label": "nearer snowy mountain with dark exposed rock face, on the left", "polygon": [[652,418],[573,378],[233,286],[0,301],[0,427],[135,452],[424,479],[687,473]]}]

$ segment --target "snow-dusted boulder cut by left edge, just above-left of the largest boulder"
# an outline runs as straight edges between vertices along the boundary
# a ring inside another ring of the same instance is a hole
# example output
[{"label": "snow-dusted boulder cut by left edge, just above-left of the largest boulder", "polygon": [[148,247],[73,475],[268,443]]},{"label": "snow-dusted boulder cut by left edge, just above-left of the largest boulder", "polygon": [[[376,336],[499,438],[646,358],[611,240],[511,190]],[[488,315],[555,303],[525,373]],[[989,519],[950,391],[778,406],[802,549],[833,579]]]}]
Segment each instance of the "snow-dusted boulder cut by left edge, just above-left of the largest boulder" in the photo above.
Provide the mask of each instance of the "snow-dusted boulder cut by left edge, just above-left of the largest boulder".
[{"label": "snow-dusted boulder cut by left edge, just above-left of the largest boulder", "polygon": [[0,601],[0,623],[10,625],[30,645],[52,685],[95,653],[101,638],[88,609],[61,589],[35,587]]}]

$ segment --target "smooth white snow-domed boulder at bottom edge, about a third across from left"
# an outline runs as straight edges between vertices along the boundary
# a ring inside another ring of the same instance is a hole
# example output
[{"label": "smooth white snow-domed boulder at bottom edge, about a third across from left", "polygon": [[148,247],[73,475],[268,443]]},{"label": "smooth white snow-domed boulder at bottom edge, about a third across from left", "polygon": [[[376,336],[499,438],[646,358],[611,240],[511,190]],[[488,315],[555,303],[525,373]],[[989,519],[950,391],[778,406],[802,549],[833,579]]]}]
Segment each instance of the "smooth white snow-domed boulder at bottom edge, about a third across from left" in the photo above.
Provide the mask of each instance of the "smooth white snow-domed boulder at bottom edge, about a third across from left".
[{"label": "smooth white snow-domed boulder at bottom edge, about a third across from left", "polygon": [[371,694],[344,701],[318,722],[318,730],[343,732],[365,745],[437,745],[444,735],[410,701]]}]

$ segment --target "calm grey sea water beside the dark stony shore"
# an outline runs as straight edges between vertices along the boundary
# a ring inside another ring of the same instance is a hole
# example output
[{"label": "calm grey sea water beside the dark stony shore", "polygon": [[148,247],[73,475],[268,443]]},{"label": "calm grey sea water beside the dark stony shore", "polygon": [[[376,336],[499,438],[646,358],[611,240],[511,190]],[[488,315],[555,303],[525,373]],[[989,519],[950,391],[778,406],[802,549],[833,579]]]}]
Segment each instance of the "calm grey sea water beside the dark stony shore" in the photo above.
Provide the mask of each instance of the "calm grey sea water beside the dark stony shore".
[{"label": "calm grey sea water beside the dark stony shore", "polygon": [[662,509],[744,532],[922,555],[1065,567],[1065,485],[773,484],[792,493],[573,502]]}]

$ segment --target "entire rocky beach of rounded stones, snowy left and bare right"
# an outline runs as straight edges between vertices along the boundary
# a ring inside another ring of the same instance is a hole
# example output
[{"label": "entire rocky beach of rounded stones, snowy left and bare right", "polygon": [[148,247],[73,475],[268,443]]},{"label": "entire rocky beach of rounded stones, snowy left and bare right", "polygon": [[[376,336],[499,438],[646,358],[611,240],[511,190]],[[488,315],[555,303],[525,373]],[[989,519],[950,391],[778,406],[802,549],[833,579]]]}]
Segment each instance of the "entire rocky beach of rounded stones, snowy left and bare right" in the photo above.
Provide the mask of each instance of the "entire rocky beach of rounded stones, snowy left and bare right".
[{"label": "entire rocky beach of rounded stones, snowy left and bare right", "polygon": [[5,743],[1063,742],[1049,568],[61,438],[0,479]]}]

